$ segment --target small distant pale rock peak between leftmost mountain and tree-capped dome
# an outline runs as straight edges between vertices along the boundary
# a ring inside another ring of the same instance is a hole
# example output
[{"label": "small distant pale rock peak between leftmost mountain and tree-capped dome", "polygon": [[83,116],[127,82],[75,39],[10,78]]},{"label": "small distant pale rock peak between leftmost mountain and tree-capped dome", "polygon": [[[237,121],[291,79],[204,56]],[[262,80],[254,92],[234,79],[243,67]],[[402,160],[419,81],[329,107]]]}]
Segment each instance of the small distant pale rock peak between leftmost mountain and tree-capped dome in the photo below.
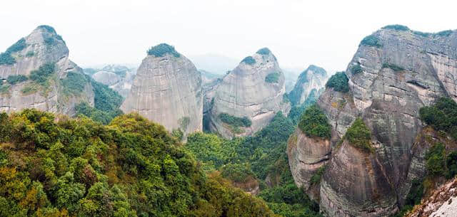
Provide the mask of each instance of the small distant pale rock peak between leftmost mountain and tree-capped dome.
[{"label": "small distant pale rock peak between leftmost mountain and tree-capped dome", "polygon": [[94,80],[119,92],[124,98],[129,95],[135,78],[135,71],[123,65],[106,65],[102,70],[91,75]]}]

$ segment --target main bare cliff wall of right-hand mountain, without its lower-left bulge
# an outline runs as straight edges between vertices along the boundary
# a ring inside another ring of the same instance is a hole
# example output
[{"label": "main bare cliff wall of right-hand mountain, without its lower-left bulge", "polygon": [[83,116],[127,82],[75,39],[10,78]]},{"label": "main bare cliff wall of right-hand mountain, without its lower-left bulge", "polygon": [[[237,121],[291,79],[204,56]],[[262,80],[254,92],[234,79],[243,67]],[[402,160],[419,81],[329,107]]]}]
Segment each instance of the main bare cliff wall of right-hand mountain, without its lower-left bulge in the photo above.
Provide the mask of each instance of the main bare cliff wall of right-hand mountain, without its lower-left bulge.
[{"label": "main bare cliff wall of right-hand mountain, without its lower-left bulge", "polygon": [[[423,127],[418,110],[441,96],[457,100],[456,70],[456,31],[386,26],[361,41],[345,72],[349,91],[327,88],[317,102],[332,126],[331,160],[321,180],[323,213],[389,216],[398,210],[412,179],[423,176],[425,150],[413,147]],[[342,141],[356,117],[371,130],[371,154]]]}]

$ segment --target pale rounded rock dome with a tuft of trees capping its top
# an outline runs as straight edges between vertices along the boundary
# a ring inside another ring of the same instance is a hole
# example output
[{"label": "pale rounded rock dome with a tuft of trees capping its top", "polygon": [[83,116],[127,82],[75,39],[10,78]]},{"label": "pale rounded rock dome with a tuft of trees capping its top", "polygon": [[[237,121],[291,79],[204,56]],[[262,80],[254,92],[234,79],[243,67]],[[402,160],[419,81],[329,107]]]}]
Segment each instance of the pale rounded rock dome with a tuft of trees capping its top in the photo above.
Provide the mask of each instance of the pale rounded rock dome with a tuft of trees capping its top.
[{"label": "pale rounded rock dome with a tuft of trees capping its top", "polygon": [[201,131],[203,99],[199,71],[169,45],[160,44],[148,53],[121,110],[138,112],[169,131],[181,129],[184,135]]}]

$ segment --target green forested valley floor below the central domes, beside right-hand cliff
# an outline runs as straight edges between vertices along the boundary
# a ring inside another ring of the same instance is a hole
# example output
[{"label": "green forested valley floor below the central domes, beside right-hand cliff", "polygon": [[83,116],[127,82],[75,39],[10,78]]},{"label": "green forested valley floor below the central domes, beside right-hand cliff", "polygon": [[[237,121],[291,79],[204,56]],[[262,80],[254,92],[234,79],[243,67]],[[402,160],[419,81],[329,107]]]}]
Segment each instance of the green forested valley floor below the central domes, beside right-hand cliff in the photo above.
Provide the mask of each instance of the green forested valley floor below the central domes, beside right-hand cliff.
[{"label": "green forested valley floor below the central domes, beside right-hand cliff", "polygon": [[[197,132],[189,134],[185,147],[203,162],[207,172],[223,171],[222,175],[234,182],[257,179],[261,188],[258,196],[275,213],[286,217],[321,216],[317,203],[294,184],[288,168],[286,143],[294,128],[293,123],[278,112],[267,127],[252,137],[228,140]],[[267,177],[272,186],[263,181]]]}]

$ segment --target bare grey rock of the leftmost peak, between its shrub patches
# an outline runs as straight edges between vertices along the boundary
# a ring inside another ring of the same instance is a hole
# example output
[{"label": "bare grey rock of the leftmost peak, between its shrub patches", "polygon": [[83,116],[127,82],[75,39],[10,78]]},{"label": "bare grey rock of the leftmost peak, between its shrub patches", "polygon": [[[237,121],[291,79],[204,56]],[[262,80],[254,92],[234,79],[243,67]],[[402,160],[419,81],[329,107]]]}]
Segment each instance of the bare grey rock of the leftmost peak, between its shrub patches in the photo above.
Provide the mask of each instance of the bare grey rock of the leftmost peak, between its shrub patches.
[{"label": "bare grey rock of the leftmost peak, between its shrub patches", "polygon": [[[89,105],[94,105],[94,91],[87,79],[82,92],[69,94],[64,91],[61,80],[64,80],[69,72],[78,73],[82,77],[84,73],[78,65],[69,60],[69,49],[54,28],[39,26],[21,40],[24,40],[23,48],[11,53],[16,63],[0,64],[0,79],[3,80],[4,87],[8,87],[1,92],[0,111],[13,112],[24,108],[36,108],[74,115],[74,105],[79,102],[89,102]],[[40,66],[48,63],[54,64],[55,70],[48,80],[47,87],[37,86],[30,79],[11,85],[6,83],[10,75],[29,76],[31,71],[38,70]],[[36,90],[24,91],[26,88]]]}]

